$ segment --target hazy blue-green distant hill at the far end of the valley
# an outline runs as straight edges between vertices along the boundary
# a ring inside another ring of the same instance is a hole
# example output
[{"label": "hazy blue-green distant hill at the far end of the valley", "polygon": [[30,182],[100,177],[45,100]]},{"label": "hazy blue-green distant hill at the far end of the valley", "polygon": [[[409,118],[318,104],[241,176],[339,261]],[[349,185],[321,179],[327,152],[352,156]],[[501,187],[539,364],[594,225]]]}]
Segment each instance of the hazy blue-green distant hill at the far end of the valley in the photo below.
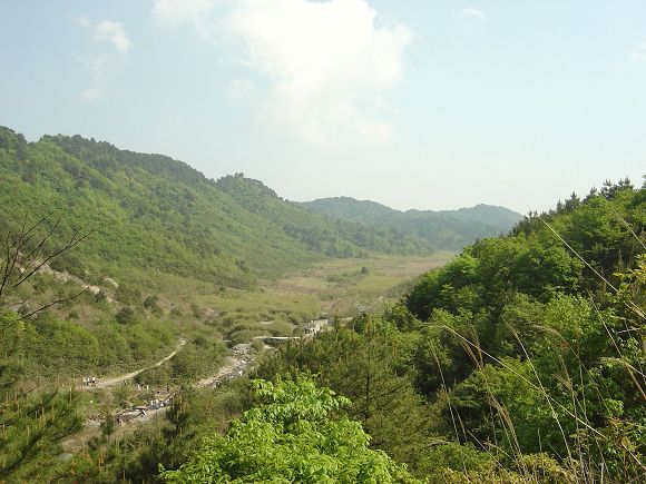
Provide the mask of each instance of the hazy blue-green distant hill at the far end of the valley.
[{"label": "hazy blue-green distant hill at the far end of the valley", "polygon": [[400,211],[374,201],[350,197],[322,198],[300,205],[340,220],[389,228],[453,250],[461,249],[476,239],[506,234],[522,219],[516,211],[491,205],[477,205],[459,210]]}]

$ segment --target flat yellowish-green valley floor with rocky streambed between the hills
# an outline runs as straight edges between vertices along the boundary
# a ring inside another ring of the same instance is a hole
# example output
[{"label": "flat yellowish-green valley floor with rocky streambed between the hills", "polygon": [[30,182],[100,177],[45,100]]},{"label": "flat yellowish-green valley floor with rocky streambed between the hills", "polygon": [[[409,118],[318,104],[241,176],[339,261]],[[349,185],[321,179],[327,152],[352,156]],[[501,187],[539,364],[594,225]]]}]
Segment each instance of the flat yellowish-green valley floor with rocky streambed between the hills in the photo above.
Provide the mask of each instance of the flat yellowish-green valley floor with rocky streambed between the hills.
[{"label": "flat yellowish-green valley floor with rocky streambed between the hills", "polygon": [[[307,322],[313,319],[334,316],[350,318],[360,312],[383,309],[385,305],[401,297],[417,276],[443,266],[453,255],[442,251],[430,257],[331,259],[283,279],[264,281],[256,290],[216,288],[196,283],[184,285],[185,292],[175,292],[175,299],[172,299],[169,293],[160,292],[160,299],[173,307],[176,315],[186,314],[182,319],[187,319],[193,312],[195,320],[179,326],[178,343],[156,363],[115,376],[100,374],[95,385],[81,386],[87,392],[84,397],[87,421],[80,433],[67,439],[66,452],[79,452],[88,441],[100,436],[100,425],[105,419],[105,415],[100,414],[107,407],[112,407],[115,415],[127,411],[127,407],[115,407],[119,393],[128,394],[121,399],[131,402],[130,407],[134,408],[138,401],[143,405],[146,393],[143,388],[148,385],[143,384],[141,391],[135,392],[139,385],[134,378],[147,382],[151,372],[174,365],[173,358],[176,355],[185,356],[182,352],[186,350],[187,340],[194,339],[196,334],[211,332],[211,337],[219,338],[232,349],[226,352],[227,356],[221,359],[221,365],[214,367],[212,373],[192,382],[185,381],[183,385],[198,388],[216,386],[246,373],[256,355],[268,349],[263,342],[264,337],[300,337],[306,333]],[[192,289],[193,294],[187,289]],[[320,319],[322,320],[325,319]],[[321,325],[317,325],[315,332],[321,329]],[[121,383],[126,386],[119,385]],[[170,393],[175,392],[178,388],[177,382],[166,381],[161,376],[151,381],[150,392],[154,394],[154,388],[168,387]],[[120,438],[140,425],[154,422],[155,416],[164,409],[166,408],[148,408],[145,416],[134,418],[125,427],[117,428],[112,437]]]}]

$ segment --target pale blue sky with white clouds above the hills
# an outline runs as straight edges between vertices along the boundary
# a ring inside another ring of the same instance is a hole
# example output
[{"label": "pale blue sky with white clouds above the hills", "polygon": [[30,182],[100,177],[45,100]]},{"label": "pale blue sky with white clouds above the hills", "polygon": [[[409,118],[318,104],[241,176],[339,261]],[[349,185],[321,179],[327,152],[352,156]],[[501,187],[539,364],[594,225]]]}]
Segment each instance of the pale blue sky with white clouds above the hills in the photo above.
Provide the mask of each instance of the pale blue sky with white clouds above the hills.
[{"label": "pale blue sky with white clouds above the hills", "polygon": [[291,200],[545,210],[646,175],[642,0],[0,0],[0,125]]}]

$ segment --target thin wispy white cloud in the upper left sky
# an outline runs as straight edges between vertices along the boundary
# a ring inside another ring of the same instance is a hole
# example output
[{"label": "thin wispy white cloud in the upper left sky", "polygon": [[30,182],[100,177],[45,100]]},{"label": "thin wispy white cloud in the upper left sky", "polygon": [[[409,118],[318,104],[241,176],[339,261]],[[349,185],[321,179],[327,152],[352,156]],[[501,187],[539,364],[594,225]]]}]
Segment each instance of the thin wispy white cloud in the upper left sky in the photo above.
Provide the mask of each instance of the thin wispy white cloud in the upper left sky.
[{"label": "thin wispy white cloud in the upper left sky", "polygon": [[91,32],[91,53],[80,56],[91,78],[91,86],[79,93],[82,102],[96,103],[108,96],[108,85],[130,49],[130,39],[120,22],[101,20],[92,23],[87,16],[72,18],[71,21]]}]

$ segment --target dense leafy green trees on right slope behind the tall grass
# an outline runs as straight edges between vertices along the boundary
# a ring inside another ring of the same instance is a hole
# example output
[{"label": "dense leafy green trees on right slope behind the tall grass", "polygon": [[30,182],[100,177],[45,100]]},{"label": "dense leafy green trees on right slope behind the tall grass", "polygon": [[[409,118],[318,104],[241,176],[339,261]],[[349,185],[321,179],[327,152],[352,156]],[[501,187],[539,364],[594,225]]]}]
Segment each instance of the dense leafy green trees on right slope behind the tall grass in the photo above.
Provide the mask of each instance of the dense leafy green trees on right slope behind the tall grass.
[{"label": "dense leafy green trees on right slope behind the tall grass", "polygon": [[644,476],[644,191],[572,196],[408,295],[432,431],[506,456],[478,478],[534,480],[529,462],[552,482]]}]

